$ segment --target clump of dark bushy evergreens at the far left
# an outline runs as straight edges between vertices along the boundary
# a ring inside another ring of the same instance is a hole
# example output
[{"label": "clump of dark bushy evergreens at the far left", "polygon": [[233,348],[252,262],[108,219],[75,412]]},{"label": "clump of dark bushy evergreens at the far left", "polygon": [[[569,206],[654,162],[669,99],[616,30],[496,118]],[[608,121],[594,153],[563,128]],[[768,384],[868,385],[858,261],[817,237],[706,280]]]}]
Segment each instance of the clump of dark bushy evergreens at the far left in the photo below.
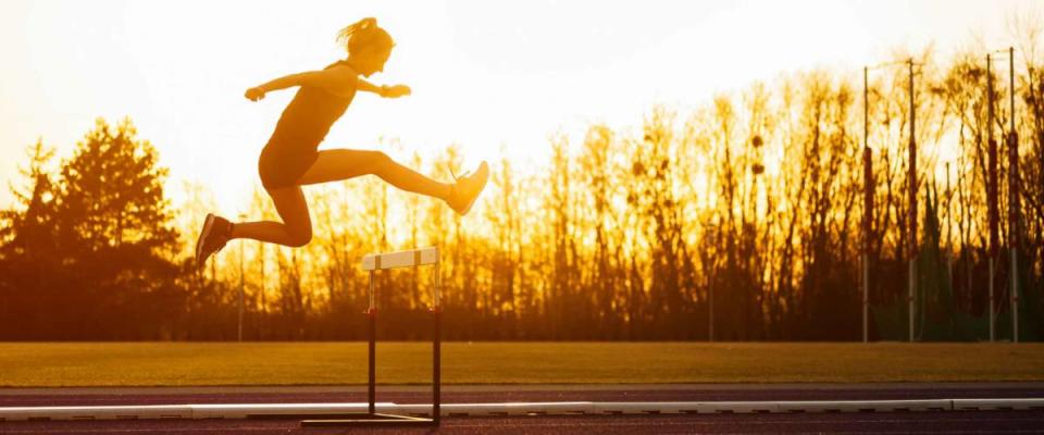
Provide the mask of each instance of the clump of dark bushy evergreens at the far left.
[{"label": "clump of dark bushy evergreens at the far left", "polygon": [[[166,170],[129,120],[99,119],[52,177],[37,142],[0,233],[2,337],[159,338],[182,311]],[[16,325],[16,326],[15,326]]]}]

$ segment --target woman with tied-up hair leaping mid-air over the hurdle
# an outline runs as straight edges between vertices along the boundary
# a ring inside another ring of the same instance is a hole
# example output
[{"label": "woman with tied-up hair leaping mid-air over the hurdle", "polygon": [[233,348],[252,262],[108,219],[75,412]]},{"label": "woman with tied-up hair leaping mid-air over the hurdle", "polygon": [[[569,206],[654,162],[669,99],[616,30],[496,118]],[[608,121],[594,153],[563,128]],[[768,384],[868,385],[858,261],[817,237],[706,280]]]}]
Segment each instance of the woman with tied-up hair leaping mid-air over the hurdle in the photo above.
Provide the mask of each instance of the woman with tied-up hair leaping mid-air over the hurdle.
[{"label": "woman with tied-up hair leaping mid-air over the hurdle", "polygon": [[344,45],[348,59],[334,62],[322,71],[290,74],[247,89],[246,97],[258,101],[270,91],[298,87],[258,161],[261,184],[272,197],[283,222],[232,223],[208,213],[196,241],[197,265],[202,265],[234,238],[289,247],[307,245],[312,238],[312,223],[301,192],[303,185],[373,174],[399,189],[442,199],[457,213],[465,214],[471,210],[489,178],[486,162],[482,162],[473,174],[446,184],[402,166],[381,151],[318,150],[331,125],[345,113],[356,92],[373,92],[384,98],[410,95],[406,85],[376,86],[362,78],[384,71],[395,47],[391,36],[377,27],[376,20],[363,18],[345,27],[337,35],[337,42]]}]

